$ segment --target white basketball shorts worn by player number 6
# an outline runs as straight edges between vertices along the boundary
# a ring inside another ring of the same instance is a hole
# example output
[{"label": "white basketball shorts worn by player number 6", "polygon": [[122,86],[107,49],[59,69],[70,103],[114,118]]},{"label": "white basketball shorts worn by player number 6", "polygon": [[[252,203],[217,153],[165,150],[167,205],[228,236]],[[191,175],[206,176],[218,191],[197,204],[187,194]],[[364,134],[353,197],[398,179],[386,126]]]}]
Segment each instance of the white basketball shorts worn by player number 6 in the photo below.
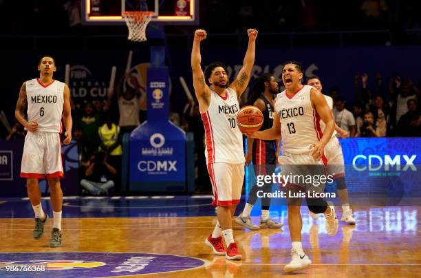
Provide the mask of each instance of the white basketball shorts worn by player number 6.
[{"label": "white basketball shorts worn by player number 6", "polygon": [[60,134],[29,132],[25,137],[21,178],[63,178]]}]

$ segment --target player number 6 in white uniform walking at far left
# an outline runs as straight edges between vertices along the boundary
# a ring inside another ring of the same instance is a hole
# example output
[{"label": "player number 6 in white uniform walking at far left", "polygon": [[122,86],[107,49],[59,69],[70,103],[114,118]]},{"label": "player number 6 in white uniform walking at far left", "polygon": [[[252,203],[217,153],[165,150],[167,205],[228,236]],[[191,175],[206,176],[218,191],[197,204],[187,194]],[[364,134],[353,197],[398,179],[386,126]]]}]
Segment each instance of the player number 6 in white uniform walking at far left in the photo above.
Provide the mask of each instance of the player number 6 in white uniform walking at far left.
[{"label": "player number 6 in white uniform walking at far left", "polygon": [[[26,178],[28,197],[35,213],[34,239],[44,233],[47,213],[41,206],[39,179],[47,177],[53,208],[53,228],[50,247],[61,246],[61,206],[63,192],[60,178],[63,178],[61,161],[61,118],[65,125],[65,145],[72,140],[72,115],[70,114],[70,92],[64,83],[53,79],[56,63],[51,56],[39,61],[39,78],[23,83],[17,100],[15,116],[28,129],[23,147],[21,177]],[[25,108],[28,107],[28,119]]]}]

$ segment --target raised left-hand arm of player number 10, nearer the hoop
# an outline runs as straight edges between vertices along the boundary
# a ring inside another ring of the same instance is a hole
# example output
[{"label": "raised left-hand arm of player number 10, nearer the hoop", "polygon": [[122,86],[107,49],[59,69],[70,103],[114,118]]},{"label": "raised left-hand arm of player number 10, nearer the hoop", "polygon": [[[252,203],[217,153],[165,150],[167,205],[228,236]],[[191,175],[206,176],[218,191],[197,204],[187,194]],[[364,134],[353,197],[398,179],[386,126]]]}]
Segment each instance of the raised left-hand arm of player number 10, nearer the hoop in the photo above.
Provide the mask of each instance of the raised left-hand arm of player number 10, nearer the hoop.
[{"label": "raised left-hand arm of player number 10, nearer the hoop", "polygon": [[210,103],[210,89],[206,85],[204,73],[202,71],[202,56],[200,55],[200,42],[206,39],[206,31],[199,29],[195,31],[195,39],[191,49],[191,69],[193,71],[193,87],[199,102],[199,111],[204,113],[208,110]]}]

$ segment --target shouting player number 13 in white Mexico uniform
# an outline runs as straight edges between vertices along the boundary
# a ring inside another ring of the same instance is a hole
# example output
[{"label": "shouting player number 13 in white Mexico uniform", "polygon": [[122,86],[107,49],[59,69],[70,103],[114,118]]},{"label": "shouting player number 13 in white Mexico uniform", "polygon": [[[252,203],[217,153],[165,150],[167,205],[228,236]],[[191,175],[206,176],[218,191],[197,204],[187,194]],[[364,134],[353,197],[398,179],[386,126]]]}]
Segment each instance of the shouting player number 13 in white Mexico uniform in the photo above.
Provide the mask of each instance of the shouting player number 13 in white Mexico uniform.
[{"label": "shouting player number 13 in white Mexico uniform", "polygon": [[[315,179],[325,175],[325,145],[329,142],[334,131],[332,111],[326,103],[323,94],[311,86],[303,85],[303,67],[298,62],[286,62],[282,69],[282,81],[285,91],[275,99],[275,114],[271,129],[247,134],[249,137],[263,140],[279,139],[282,134],[282,156],[279,165],[282,175],[290,176],[284,180],[288,191],[288,225],[292,241],[292,259],[284,268],[285,272],[292,272],[307,267],[312,263],[305,255],[301,245],[301,193],[305,193],[307,206],[313,213],[324,213],[326,217],[326,231],[328,235],[335,235],[338,231],[338,220],[334,206],[329,206],[321,197],[310,197],[307,193],[322,193],[325,184],[316,183]],[[320,121],[325,122],[324,133],[321,131]],[[307,182],[294,176],[311,176]],[[292,180],[292,182],[291,182]]]}]

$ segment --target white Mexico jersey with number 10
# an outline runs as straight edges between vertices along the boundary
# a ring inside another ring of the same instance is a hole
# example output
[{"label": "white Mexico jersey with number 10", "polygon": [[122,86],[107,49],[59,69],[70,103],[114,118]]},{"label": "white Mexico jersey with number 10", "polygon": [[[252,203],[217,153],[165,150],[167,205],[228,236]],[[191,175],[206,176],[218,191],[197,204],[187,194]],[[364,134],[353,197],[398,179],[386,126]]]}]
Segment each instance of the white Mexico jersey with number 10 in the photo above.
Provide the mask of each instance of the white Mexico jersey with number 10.
[{"label": "white Mexico jersey with number 10", "polygon": [[226,99],[210,91],[208,111],[202,114],[206,132],[205,156],[207,164],[243,163],[243,136],[237,127],[239,104],[237,94],[226,89]]}]

